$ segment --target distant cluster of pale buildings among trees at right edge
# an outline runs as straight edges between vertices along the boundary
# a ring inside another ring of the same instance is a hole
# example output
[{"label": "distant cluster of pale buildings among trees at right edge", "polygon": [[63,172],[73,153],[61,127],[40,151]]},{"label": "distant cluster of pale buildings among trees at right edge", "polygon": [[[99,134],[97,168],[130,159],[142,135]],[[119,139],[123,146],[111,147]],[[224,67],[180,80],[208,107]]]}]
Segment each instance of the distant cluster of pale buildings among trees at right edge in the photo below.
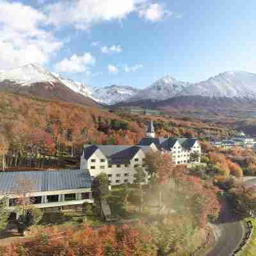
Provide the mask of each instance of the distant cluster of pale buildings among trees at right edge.
[{"label": "distant cluster of pale buildings among trees at right edge", "polygon": [[217,148],[253,148],[256,146],[256,140],[250,136],[246,136],[244,132],[239,132],[234,138],[228,140],[212,140],[211,143]]}]

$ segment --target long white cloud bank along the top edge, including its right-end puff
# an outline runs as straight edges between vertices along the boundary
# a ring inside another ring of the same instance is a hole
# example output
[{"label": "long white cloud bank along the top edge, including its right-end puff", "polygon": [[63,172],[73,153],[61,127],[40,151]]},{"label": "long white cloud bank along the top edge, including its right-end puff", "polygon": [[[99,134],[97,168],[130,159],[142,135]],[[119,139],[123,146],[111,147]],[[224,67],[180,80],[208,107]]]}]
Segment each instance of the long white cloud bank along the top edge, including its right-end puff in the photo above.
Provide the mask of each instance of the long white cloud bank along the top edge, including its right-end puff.
[{"label": "long white cloud bank along the top edge, including its right-end puff", "polygon": [[81,30],[104,21],[123,20],[131,13],[154,21],[170,13],[152,0],[58,0],[44,10],[54,26],[71,25]]}]

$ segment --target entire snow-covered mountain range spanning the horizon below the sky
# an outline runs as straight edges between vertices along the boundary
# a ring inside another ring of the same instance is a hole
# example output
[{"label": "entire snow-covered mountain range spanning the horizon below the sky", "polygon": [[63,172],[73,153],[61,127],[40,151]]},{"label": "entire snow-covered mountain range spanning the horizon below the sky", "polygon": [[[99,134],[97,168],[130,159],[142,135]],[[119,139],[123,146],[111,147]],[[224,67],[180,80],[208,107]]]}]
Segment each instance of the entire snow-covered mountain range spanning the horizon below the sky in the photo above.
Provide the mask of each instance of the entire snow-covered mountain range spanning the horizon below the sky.
[{"label": "entire snow-covered mountain range spanning the horizon below the sky", "polygon": [[[53,90],[54,84],[63,84],[67,87],[61,89],[62,94],[64,91],[67,94],[64,97],[66,101],[68,101],[68,92],[71,90],[71,94],[77,93],[77,97],[80,98],[79,102],[83,102],[81,97],[86,97],[89,101],[109,106],[120,102],[125,104],[126,102],[141,102],[141,100],[161,101],[181,96],[249,99],[256,97],[256,74],[239,70],[228,70],[198,83],[179,81],[171,76],[164,76],[143,89],[116,84],[100,88],[92,87],[86,83],[49,72],[37,63],[0,72],[0,90],[10,90],[11,88],[14,90],[15,88],[15,92],[18,90],[35,93],[35,89],[28,88],[35,84],[37,86],[41,84],[41,87],[42,84],[45,84],[45,90],[48,88],[49,91]],[[60,86],[58,88],[60,90]],[[40,96],[39,92],[37,94]],[[44,97],[51,97],[49,93],[42,94]],[[72,98],[74,100],[75,97]]]}]

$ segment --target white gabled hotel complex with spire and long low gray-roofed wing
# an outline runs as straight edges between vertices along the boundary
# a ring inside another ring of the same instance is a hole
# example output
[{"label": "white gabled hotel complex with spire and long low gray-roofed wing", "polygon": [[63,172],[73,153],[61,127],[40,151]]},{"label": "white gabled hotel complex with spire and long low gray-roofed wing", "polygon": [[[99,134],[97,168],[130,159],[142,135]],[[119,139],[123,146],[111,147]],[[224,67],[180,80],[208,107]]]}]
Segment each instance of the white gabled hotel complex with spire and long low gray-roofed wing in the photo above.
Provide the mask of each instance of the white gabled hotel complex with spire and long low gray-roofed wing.
[{"label": "white gabled hotel complex with spire and long low gray-roofed wing", "polygon": [[145,168],[146,154],[157,150],[171,154],[175,164],[192,163],[191,154],[196,153],[198,157],[193,158],[193,163],[200,163],[201,147],[197,139],[155,138],[151,121],[137,145],[84,145],[80,170],[0,173],[0,199],[8,195],[6,204],[15,212],[19,198],[17,192],[22,189],[19,180],[31,180],[33,188],[29,196],[35,207],[45,211],[77,209],[84,202],[93,202],[91,187],[94,177],[106,173],[112,186],[132,184],[136,168]]}]

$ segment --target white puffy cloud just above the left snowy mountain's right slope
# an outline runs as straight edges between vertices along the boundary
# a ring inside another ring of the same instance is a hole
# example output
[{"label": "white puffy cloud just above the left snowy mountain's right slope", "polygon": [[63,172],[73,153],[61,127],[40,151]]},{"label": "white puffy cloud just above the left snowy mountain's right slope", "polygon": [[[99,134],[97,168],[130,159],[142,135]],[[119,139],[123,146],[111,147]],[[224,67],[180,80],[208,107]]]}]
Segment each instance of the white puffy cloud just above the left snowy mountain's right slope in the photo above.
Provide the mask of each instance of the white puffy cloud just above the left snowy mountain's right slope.
[{"label": "white puffy cloud just above the left snowy mountain's right slope", "polygon": [[69,59],[65,58],[60,62],[56,63],[56,72],[86,72],[95,63],[95,58],[90,52],[85,52],[82,56],[72,55]]}]

